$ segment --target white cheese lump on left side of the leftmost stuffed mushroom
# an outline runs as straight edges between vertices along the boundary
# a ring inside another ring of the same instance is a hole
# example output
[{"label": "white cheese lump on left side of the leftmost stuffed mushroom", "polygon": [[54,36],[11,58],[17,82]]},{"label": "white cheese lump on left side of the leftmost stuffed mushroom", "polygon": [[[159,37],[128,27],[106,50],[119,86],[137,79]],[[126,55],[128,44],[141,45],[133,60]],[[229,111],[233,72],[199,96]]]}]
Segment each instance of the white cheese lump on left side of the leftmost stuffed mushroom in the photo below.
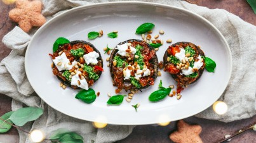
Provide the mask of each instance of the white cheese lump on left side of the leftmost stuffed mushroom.
[{"label": "white cheese lump on left side of the leftmost stuffed mushroom", "polygon": [[[62,63],[61,65],[60,62]],[[71,70],[71,68],[73,68],[72,65],[69,65],[69,59],[67,58],[65,53],[62,53],[60,56],[55,57],[55,59],[53,59],[53,63],[58,68],[58,71]]]}]

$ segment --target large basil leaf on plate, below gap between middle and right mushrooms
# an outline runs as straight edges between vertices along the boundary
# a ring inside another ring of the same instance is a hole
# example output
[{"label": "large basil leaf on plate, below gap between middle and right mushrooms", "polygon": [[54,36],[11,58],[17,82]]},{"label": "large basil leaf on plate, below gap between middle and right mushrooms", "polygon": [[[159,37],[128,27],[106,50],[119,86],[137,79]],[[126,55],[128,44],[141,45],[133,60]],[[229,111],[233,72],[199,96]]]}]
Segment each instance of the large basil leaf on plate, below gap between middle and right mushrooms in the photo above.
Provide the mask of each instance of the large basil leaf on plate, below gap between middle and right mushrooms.
[{"label": "large basil leaf on plate, below gap between middle and right mushrooms", "polygon": [[170,94],[171,90],[172,90],[171,88],[156,90],[152,92],[152,94],[150,94],[149,101],[151,102],[160,101],[164,99],[168,94]]}]

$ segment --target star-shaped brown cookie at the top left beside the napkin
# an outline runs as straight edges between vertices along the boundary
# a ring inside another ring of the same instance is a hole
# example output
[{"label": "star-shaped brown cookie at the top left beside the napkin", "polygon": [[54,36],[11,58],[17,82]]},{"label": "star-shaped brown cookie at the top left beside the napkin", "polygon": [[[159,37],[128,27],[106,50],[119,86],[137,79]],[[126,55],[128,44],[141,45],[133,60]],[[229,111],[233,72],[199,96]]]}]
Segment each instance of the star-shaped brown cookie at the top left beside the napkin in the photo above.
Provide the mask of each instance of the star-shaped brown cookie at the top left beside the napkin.
[{"label": "star-shaped brown cookie at the top left beside the napkin", "polygon": [[25,32],[34,27],[41,27],[46,19],[41,15],[41,1],[17,0],[17,8],[11,9],[9,16],[11,20],[18,22],[20,28]]}]

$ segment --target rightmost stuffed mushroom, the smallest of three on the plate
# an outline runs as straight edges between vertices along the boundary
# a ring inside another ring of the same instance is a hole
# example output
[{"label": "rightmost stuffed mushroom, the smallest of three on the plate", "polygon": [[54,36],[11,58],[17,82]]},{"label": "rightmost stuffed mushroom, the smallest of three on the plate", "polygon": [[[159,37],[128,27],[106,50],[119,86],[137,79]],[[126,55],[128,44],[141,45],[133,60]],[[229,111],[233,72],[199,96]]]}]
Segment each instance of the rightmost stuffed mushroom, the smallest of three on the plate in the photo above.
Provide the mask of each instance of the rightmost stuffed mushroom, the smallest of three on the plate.
[{"label": "rightmost stuffed mushroom, the smallest of three on the plate", "polygon": [[172,75],[179,94],[184,87],[196,82],[205,69],[205,54],[191,42],[177,42],[169,46],[164,55],[164,71]]}]

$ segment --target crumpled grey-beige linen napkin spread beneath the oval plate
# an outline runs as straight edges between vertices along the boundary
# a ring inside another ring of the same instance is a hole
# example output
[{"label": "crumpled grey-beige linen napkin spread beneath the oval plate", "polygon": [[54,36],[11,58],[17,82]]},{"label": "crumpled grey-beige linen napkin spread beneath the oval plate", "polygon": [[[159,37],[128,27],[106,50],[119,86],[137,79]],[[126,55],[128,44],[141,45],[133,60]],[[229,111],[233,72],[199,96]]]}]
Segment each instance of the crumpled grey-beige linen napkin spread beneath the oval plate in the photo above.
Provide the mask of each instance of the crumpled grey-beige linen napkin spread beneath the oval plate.
[{"label": "crumpled grey-beige linen napkin spread beneath the oval plate", "polygon": [[[43,15],[49,20],[67,9],[102,2],[107,1],[43,0]],[[254,69],[256,57],[254,54],[256,54],[256,27],[223,9],[208,9],[176,0],[147,0],[147,2],[178,6],[198,13],[220,30],[231,48],[233,61],[231,80],[224,94],[220,97],[220,100],[229,106],[227,113],[219,116],[214,113],[212,108],[208,108],[196,116],[229,122],[255,115],[256,76]],[[90,121],[77,120],[56,111],[35,94],[25,75],[24,55],[30,36],[36,30],[37,28],[34,28],[31,30],[32,32],[26,34],[19,27],[15,27],[2,40],[13,51],[0,63],[0,93],[13,98],[13,111],[23,106],[35,106],[44,109],[44,114],[38,120],[34,123],[27,123],[22,128],[28,131],[41,129],[46,135],[57,128],[69,128],[69,130],[81,134],[85,142],[91,142],[91,140],[114,142],[127,137],[134,126],[107,125],[105,128],[96,129],[93,128]],[[23,132],[19,132],[19,134],[20,142],[30,142]]]}]

